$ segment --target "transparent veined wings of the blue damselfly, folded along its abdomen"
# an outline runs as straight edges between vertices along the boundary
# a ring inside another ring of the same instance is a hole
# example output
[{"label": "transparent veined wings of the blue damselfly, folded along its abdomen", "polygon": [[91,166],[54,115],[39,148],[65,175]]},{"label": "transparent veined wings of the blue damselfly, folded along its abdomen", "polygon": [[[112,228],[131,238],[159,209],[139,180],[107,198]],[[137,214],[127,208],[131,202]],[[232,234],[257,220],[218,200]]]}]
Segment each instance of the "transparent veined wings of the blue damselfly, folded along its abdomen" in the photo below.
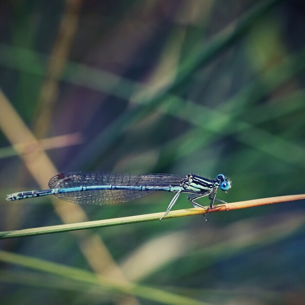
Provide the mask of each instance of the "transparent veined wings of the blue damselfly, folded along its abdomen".
[{"label": "transparent veined wings of the blue damselfly, folded along its abdomen", "polygon": [[[114,172],[63,172],[49,181],[50,189],[95,185],[179,186],[185,176],[170,174],[129,174]],[[56,194],[62,200],[86,205],[104,205],[131,201],[153,191],[92,190]]]}]

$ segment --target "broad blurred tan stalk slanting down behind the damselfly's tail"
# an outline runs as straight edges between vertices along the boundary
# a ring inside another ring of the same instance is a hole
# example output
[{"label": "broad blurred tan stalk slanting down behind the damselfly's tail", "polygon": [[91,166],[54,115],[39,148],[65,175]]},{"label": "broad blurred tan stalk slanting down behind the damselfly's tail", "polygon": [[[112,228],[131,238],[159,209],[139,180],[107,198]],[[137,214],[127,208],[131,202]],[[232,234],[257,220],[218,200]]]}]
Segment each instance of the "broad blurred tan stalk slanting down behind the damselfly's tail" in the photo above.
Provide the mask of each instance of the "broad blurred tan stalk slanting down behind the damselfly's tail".
[{"label": "broad blurred tan stalk slanting down behind the damselfly's tail", "polygon": [[[12,144],[23,142],[37,143],[37,139],[34,137],[33,133],[31,133],[30,129],[23,122],[1,90],[0,109],[0,129]],[[48,155],[42,150],[36,151],[30,155],[22,154],[22,152],[20,152],[19,156],[33,178],[37,181],[38,185],[40,185],[40,188],[44,188],[46,181],[58,173]],[[43,169],[43,171],[41,169]],[[88,220],[86,213],[79,205],[73,205],[68,209],[64,209],[62,206],[56,205],[56,198],[51,197],[50,200],[54,204],[58,216],[64,223]],[[104,245],[100,236],[97,234],[87,234],[83,231],[76,232],[75,237],[80,250],[96,273],[102,273],[105,270],[105,266],[107,266],[112,268],[113,271],[112,274],[108,274],[109,277],[115,277],[116,279],[125,281],[124,275],[115,264],[113,257],[110,255],[110,252]],[[98,257],[98,259],[96,257]],[[133,304],[137,304],[136,300],[134,300]]]}]

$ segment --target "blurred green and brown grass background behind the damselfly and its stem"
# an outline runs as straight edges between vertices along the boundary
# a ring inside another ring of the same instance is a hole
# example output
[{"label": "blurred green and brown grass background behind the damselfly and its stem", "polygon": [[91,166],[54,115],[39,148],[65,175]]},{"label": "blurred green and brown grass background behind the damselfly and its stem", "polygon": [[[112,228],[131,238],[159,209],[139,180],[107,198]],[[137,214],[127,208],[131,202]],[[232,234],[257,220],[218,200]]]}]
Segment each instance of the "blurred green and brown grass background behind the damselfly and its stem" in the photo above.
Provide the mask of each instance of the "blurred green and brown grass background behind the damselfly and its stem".
[{"label": "blurred green and brown grass background behind the damselfly and its stem", "polygon": [[[161,212],[172,198],[5,201],[66,171],[225,172],[228,202],[304,193],[304,17],[301,0],[1,1],[0,230]],[[190,207],[181,195],[174,208]],[[2,240],[20,255],[0,256],[0,302],[305,304],[304,201],[209,219]],[[62,265],[105,282],[52,273]]]}]

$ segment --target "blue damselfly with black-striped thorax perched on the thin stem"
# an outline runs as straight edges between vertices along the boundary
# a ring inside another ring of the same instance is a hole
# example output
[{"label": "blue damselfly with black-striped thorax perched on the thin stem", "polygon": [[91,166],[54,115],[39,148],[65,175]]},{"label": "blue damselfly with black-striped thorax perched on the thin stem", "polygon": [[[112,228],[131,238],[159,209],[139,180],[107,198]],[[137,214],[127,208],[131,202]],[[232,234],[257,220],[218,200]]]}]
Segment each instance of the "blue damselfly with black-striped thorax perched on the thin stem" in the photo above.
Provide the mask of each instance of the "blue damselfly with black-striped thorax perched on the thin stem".
[{"label": "blue damselfly with black-striped thorax perched on the thin stem", "polygon": [[203,178],[192,173],[186,176],[171,174],[125,174],[112,172],[64,172],[49,181],[49,190],[22,191],[7,195],[6,200],[56,195],[60,199],[86,205],[103,205],[126,202],[146,196],[153,191],[171,191],[173,196],[166,212],[172,209],[180,193],[190,193],[188,199],[194,207],[201,207],[195,200],[209,196],[210,209],[213,208],[218,188],[228,191],[231,187],[224,174],[215,180]]}]

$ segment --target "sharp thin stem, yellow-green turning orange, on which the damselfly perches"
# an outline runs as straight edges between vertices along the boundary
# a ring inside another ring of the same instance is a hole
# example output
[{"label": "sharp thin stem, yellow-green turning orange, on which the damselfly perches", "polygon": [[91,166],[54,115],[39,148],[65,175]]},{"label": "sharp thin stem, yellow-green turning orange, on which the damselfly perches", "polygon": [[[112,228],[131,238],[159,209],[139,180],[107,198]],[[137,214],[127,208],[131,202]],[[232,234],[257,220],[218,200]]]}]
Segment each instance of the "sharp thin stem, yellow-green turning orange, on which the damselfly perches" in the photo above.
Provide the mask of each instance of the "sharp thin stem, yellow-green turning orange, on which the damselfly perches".
[{"label": "sharp thin stem, yellow-green turning orange, on which the damselfly perches", "polygon": [[[259,206],[264,206],[264,205],[269,205],[269,204],[274,204],[274,203],[296,201],[296,200],[302,200],[302,199],[305,199],[305,194],[233,202],[233,203],[226,204],[226,206],[220,206],[218,208],[216,207],[212,210],[208,209],[208,207],[207,207],[207,210],[203,210],[202,208],[175,210],[175,211],[170,211],[163,219],[205,214],[208,212],[214,213],[214,212],[221,212],[221,211],[253,208],[253,207],[259,207]],[[136,215],[136,216],[129,216],[129,217],[121,217],[121,218],[87,221],[87,222],[80,222],[80,223],[76,223],[76,224],[39,227],[39,228],[22,229],[22,230],[14,230],[14,231],[3,231],[3,232],[0,232],[0,239],[21,237],[21,236],[50,234],[50,233],[74,231],[74,230],[81,230],[81,229],[110,227],[110,226],[116,226],[116,225],[159,220],[160,217],[163,216],[163,214],[164,214],[164,212],[160,212],[160,213]]]}]

